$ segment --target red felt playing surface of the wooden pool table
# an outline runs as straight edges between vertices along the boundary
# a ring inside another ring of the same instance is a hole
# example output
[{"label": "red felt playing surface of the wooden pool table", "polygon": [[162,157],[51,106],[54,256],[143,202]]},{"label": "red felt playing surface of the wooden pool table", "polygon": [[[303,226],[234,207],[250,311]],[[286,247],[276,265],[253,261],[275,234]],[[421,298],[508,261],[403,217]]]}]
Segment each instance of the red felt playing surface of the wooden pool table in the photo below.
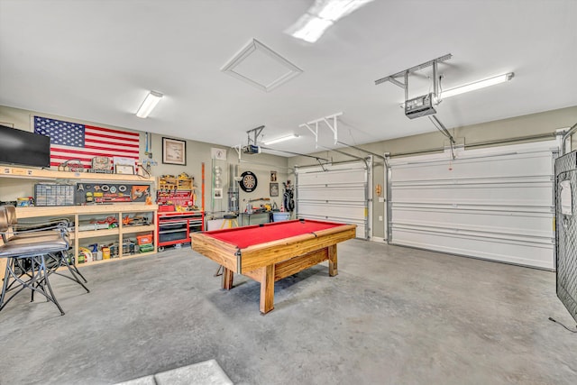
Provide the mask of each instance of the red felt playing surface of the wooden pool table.
[{"label": "red felt playing surface of the wooden pool table", "polygon": [[275,222],[266,225],[252,225],[235,227],[232,229],[214,230],[206,232],[220,241],[234,244],[239,249],[261,243],[279,241],[301,234],[315,234],[321,230],[344,226],[334,222],[322,222],[312,220],[294,220]]}]

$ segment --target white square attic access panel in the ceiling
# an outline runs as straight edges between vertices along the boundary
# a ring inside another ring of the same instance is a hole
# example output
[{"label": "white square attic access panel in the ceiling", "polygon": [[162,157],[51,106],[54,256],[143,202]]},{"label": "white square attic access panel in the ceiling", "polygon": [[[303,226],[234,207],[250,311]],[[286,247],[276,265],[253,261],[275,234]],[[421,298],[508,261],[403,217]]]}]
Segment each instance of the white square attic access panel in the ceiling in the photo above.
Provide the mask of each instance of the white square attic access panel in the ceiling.
[{"label": "white square attic access panel in the ceiling", "polygon": [[303,71],[256,39],[249,41],[221,70],[265,92],[279,87]]}]

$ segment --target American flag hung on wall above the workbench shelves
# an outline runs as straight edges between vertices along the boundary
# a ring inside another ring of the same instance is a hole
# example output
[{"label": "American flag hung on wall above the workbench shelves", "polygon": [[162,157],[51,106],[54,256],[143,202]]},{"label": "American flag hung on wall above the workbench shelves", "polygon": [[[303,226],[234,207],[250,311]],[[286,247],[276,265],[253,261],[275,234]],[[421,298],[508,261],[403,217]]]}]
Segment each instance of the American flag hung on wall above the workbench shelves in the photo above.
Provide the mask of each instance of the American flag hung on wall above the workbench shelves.
[{"label": "American flag hung on wall above the workbench shelves", "polygon": [[34,133],[50,136],[50,166],[78,159],[89,169],[95,156],[139,160],[139,133],[34,116]]}]

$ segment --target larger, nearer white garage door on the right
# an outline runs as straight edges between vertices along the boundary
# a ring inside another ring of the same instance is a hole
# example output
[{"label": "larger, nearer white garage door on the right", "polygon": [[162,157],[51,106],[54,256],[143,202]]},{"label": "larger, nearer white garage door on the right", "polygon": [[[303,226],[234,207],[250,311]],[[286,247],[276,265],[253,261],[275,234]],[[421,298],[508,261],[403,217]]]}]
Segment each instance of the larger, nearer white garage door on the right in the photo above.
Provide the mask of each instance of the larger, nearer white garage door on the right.
[{"label": "larger, nearer white garage door on the right", "polygon": [[554,269],[557,142],[390,160],[390,243]]}]

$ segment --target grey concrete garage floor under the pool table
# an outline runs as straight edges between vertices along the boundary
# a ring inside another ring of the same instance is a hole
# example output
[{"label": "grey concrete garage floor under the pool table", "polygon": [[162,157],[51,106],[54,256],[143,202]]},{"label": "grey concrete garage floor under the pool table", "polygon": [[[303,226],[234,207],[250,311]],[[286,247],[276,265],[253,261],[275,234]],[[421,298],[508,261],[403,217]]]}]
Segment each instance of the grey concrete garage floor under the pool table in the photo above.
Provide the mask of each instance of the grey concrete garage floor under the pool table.
[{"label": "grey concrete garage floor under the pool table", "polygon": [[52,280],[65,316],[21,294],[0,312],[0,384],[105,384],[215,359],[235,384],[575,384],[554,273],[352,240],[275,287],[189,247]]}]

